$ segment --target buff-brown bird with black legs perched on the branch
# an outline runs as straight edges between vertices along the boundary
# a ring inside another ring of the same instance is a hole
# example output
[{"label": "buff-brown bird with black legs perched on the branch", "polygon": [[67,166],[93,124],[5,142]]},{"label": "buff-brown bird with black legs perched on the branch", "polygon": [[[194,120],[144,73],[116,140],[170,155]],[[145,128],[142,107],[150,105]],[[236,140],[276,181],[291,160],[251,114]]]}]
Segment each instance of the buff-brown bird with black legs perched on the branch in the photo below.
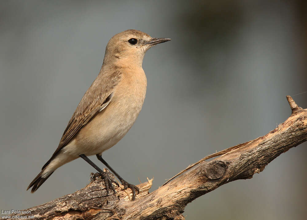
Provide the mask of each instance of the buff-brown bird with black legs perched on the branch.
[{"label": "buff-brown bird with black legs perched on the branch", "polygon": [[118,186],[108,172],[101,170],[88,156],[96,155],[124,186],[132,190],[135,199],[138,187],[126,182],[102,158],[103,151],[122,139],[141,111],[147,87],[142,68],[145,52],[170,38],[154,38],[139,30],[115,34],[107,43],[100,72],[80,100],[68,122],[57,149],[29,184],[34,193],[62,165],[77,158],[94,167],[104,180],[107,195],[116,194]]}]

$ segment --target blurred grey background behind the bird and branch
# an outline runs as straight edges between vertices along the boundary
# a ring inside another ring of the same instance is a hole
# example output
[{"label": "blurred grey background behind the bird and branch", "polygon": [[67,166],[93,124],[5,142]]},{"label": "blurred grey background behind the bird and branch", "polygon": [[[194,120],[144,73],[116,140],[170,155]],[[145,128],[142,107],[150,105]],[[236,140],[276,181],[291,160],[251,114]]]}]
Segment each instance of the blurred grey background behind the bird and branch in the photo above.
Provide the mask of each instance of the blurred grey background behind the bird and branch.
[{"label": "blurred grey background behind the bird and branch", "polygon": [[[103,158],[151,191],[204,156],[255,139],[307,108],[306,1],[1,1],[0,209],[21,210],[81,189],[94,169],[60,167],[31,194],[109,39],[126,29],[172,41],[150,49],[148,87],[127,135]],[[295,96],[294,96],[295,95]],[[186,219],[305,219],[306,143],[252,179],[188,204]],[[104,167],[95,156],[91,157]]]}]

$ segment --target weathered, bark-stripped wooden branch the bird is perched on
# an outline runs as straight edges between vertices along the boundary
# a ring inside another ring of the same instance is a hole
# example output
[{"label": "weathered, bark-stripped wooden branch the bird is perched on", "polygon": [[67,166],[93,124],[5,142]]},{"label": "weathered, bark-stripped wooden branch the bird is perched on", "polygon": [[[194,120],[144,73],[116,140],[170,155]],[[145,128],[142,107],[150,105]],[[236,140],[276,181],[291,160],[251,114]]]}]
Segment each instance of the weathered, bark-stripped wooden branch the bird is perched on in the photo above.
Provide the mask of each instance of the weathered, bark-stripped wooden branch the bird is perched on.
[{"label": "weathered, bark-stripped wooden branch the bird is perched on", "polygon": [[[185,206],[197,197],[225,183],[250,179],[281,153],[307,139],[307,109],[287,96],[292,114],[265,136],[209,155],[187,167],[171,180],[148,193],[152,179],[138,185],[140,194],[129,201],[131,190],[118,196],[106,195],[103,181],[97,178],[75,193],[29,208],[35,219],[176,219],[182,220]],[[219,156],[212,161],[206,159]],[[192,169],[193,168],[193,169]],[[176,179],[174,179],[177,177]],[[119,197],[119,199],[118,199]]]}]

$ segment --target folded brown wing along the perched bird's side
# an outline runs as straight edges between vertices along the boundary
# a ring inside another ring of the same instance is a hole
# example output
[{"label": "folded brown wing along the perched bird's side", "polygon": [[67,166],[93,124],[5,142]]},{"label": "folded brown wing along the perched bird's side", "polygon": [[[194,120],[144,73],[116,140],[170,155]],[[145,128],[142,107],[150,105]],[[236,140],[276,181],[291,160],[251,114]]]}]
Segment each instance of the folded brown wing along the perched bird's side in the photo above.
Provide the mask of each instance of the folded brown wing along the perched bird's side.
[{"label": "folded brown wing along the perched bird's side", "polygon": [[52,157],[43,166],[42,170],[51,160],[65,147],[68,142],[91,120],[99,111],[107,106],[111,101],[115,86],[119,83],[121,72],[114,71],[111,74],[99,74],[90,88],[85,92],[76,111],[69,120],[68,125],[60,140],[60,144]]}]

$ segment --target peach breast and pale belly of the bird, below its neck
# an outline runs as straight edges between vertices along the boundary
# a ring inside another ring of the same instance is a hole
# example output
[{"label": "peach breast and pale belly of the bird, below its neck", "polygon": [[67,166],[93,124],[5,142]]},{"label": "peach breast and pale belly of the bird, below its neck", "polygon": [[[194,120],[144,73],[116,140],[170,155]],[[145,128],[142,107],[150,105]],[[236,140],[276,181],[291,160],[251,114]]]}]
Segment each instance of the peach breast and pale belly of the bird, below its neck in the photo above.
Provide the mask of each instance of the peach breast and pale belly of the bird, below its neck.
[{"label": "peach breast and pale belly of the bird, below its neck", "polygon": [[111,102],[63,148],[64,152],[72,156],[99,154],[125,136],[138,117],[146,94],[144,71],[133,72],[134,75],[122,75]]}]

